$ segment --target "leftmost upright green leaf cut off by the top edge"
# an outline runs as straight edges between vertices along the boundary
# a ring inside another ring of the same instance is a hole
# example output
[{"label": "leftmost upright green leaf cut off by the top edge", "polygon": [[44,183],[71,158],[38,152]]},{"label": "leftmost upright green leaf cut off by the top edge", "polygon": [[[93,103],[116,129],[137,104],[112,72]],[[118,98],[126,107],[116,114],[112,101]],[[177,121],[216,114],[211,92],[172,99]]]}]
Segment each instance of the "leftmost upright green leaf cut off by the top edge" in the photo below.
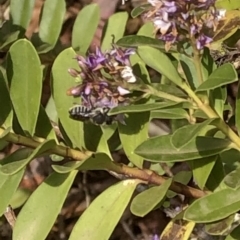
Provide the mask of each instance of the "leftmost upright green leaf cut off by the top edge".
[{"label": "leftmost upright green leaf cut off by the top edge", "polygon": [[11,0],[10,14],[13,19],[13,24],[27,29],[32,17],[32,11],[35,0]]}]

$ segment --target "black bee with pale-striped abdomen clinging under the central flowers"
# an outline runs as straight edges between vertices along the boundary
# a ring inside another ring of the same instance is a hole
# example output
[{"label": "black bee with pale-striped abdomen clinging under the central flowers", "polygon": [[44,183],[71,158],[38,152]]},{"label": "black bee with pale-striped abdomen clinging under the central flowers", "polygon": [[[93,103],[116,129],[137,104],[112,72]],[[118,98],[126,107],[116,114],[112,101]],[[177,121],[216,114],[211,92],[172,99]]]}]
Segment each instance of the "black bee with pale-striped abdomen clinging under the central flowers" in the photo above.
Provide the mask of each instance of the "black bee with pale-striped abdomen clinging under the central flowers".
[{"label": "black bee with pale-striped abdomen clinging under the central flowers", "polygon": [[110,108],[108,107],[85,107],[83,105],[75,105],[69,109],[69,117],[82,122],[92,122],[95,125],[111,125],[114,117],[108,116]]}]

